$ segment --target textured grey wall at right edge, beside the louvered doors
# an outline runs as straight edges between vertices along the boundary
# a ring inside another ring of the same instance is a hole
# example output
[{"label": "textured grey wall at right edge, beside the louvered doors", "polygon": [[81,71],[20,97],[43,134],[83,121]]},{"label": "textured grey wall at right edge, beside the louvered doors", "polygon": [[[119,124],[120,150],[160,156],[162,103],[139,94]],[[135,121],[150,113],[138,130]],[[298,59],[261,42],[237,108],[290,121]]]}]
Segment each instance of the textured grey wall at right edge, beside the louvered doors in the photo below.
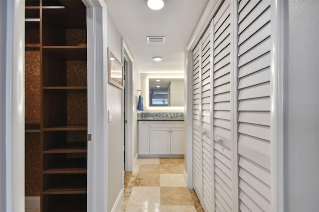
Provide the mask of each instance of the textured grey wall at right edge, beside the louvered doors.
[{"label": "textured grey wall at right edge, beside the louvered doors", "polygon": [[284,211],[319,209],[319,1],[285,1]]}]

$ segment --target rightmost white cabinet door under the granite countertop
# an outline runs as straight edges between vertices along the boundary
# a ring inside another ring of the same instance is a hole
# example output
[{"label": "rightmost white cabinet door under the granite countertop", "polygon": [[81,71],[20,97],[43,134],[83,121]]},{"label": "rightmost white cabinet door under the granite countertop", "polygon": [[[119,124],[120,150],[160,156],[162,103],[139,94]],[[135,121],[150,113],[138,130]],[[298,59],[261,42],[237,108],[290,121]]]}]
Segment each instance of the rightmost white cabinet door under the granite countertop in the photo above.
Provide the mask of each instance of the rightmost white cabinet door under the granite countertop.
[{"label": "rightmost white cabinet door under the granite countertop", "polygon": [[170,128],[170,154],[183,155],[185,153],[184,128]]}]

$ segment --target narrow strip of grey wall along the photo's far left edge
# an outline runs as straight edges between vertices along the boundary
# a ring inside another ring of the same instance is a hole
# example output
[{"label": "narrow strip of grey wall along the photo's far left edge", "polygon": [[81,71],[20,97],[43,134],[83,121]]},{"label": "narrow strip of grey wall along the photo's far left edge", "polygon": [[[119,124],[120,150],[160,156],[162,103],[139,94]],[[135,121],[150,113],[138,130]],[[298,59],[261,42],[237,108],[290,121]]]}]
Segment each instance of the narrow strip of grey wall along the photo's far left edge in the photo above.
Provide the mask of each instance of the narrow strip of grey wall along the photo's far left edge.
[{"label": "narrow strip of grey wall along the photo's far left edge", "polygon": [[[5,173],[6,1],[0,1],[0,173]],[[0,175],[0,211],[6,211],[5,175]]]}]

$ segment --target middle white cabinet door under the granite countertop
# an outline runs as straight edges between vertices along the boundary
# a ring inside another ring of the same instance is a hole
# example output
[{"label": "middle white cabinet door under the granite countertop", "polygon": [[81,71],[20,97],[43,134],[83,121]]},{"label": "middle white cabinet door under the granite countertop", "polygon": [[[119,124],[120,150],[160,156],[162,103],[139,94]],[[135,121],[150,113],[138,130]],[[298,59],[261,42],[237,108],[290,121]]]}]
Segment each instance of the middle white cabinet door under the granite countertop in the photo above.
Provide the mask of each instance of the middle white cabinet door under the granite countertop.
[{"label": "middle white cabinet door under the granite countertop", "polygon": [[157,155],[170,154],[170,128],[151,128],[150,153]]}]

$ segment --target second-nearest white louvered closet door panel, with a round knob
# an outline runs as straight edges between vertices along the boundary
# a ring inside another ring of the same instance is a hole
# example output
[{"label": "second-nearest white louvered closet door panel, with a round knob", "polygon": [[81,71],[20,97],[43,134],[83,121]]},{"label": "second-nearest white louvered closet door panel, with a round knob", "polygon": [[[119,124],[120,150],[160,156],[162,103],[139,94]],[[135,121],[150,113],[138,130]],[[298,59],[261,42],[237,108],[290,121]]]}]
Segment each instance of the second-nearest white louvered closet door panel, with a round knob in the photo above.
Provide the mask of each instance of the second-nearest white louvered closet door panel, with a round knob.
[{"label": "second-nearest white louvered closet door panel, with a round knob", "polygon": [[[235,2],[236,3],[236,2]],[[231,212],[235,208],[233,139],[233,1],[225,0],[213,22],[213,136],[214,136],[214,211]],[[235,167],[236,166],[236,167]],[[236,187],[237,188],[237,185]]]}]

